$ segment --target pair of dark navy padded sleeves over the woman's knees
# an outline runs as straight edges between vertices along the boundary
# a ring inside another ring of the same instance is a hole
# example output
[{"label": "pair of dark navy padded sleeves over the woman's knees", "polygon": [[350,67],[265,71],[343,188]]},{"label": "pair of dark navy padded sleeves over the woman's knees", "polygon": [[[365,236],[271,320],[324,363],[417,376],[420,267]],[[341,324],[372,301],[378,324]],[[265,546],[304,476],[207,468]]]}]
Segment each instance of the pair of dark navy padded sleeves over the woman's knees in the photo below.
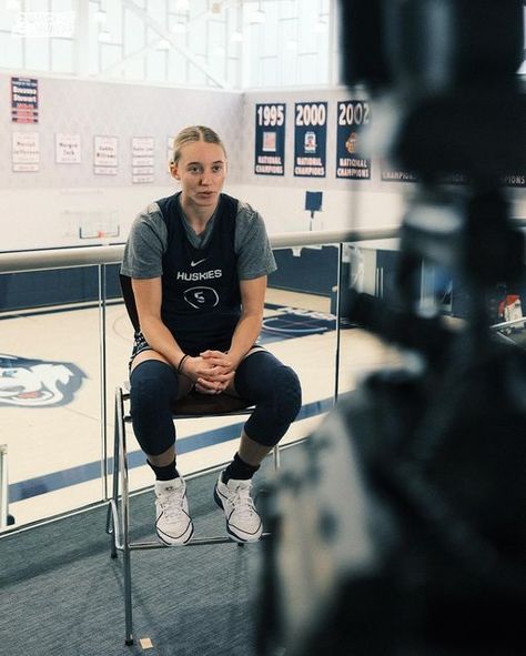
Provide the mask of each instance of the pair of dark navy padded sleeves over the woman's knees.
[{"label": "pair of dark navy padded sleeves over the woman's knees", "polygon": [[[171,406],[178,398],[175,371],[159,360],[146,360],[131,373],[131,416],[135,437],[148,455],[164,453],[175,442]],[[294,371],[261,350],[245,357],[234,376],[236,393],[254,403],[245,423],[249,437],[272,447],[286,433],[302,405]]]}]

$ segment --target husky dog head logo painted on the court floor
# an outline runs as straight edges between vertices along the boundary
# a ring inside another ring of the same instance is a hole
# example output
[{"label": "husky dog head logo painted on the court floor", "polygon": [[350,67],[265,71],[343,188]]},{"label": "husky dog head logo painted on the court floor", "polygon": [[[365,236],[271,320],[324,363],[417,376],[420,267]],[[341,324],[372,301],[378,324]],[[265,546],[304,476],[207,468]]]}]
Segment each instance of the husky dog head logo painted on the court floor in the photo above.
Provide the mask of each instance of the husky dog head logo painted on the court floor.
[{"label": "husky dog head logo painted on the court floor", "polygon": [[45,362],[0,354],[0,405],[65,405],[85,374],[70,362]]}]

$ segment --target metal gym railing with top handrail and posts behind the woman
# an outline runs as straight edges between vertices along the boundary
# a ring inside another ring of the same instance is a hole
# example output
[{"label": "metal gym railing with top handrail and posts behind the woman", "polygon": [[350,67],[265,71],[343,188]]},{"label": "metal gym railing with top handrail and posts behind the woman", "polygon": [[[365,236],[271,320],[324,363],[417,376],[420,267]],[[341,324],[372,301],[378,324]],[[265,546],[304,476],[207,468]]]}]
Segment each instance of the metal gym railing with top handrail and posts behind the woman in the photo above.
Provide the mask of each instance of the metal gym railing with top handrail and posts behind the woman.
[{"label": "metal gym railing with top handrail and posts behind the woman", "polygon": [[[338,396],[340,377],[340,332],[342,310],[342,271],[344,244],[393,239],[397,236],[396,226],[338,230],[338,231],[310,231],[270,235],[273,249],[290,249],[303,246],[333,245],[337,248],[337,284],[335,297],[335,373],[334,373],[334,402]],[[105,266],[118,264],[122,261],[124,244],[101,244],[93,246],[74,246],[62,249],[45,249],[38,251],[0,252],[0,274],[26,273],[45,270],[59,270],[71,268],[98,266],[98,307],[99,307],[99,359],[100,359],[100,441],[101,441],[101,480],[102,498],[108,502],[110,484],[110,466],[108,457],[108,394],[107,394],[107,295],[105,295]],[[0,312],[2,309],[0,307]],[[9,485],[7,474],[7,450],[0,450],[0,533],[9,528],[12,517],[9,515]],[[74,512],[72,509],[71,512]],[[65,513],[68,514],[68,513]],[[39,518],[42,521],[49,517]],[[37,519],[34,523],[39,523]]]}]

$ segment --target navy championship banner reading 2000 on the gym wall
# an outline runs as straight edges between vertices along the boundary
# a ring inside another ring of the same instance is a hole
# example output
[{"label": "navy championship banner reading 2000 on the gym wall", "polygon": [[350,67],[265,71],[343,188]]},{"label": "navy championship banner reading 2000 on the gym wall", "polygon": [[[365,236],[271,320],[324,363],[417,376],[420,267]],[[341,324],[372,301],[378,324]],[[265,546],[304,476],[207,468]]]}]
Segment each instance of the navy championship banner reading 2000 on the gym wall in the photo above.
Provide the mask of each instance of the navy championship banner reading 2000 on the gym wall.
[{"label": "navy championship banner reading 2000 on the gym wall", "polygon": [[294,175],[325,178],[327,103],[296,102],[294,105]]}]

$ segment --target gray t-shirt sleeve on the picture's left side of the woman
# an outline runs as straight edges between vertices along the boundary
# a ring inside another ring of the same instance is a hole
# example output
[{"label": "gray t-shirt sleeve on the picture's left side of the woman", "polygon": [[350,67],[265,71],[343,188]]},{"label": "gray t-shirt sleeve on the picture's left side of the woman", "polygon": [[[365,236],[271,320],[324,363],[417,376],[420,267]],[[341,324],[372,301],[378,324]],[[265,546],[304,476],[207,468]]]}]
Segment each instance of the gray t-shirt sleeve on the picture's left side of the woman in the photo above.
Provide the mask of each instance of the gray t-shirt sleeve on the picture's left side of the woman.
[{"label": "gray t-shirt sleeve on the picture's left side of the woman", "polygon": [[161,276],[166,243],[168,232],[161,210],[156,203],[151,203],[132,223],[121,273],[139,279]]}]

